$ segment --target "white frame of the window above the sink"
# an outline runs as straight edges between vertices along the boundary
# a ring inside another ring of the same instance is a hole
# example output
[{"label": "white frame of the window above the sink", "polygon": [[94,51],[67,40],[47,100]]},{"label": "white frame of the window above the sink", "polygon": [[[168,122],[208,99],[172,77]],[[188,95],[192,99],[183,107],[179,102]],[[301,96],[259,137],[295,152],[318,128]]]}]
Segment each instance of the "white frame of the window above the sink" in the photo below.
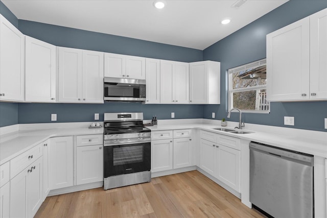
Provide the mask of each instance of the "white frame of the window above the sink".
[{"label": "white frame of the window above the sink", "polygon": [[[243,64],[237,67],[233,67],[227,70],[227,85],[228,85],[228,108],[227,111],[229,111],[232,107],[232,96],[233,93],[237,92],[244,92],[244,91],[255,91],[255,90],[260,90],[260,89],[266,89],[267,90],[267,82],[266,85],[257,85],[257,86],[250,86],[250,87],[245,87],[245,88],[238,88],[238,89],[233,89],[232,87],[232,75],[235,74],[236,72],[240,72],[246,69],[249,69],[251,67],[258,67],[262,65],[266,65],[267,60],[266,58],[258,60],[258,61],[253,61],[251,63]],[[268,102],[268,110],[246,110],[246,109],[240,109],[242,113],[270,113],[270,102]]]}]

